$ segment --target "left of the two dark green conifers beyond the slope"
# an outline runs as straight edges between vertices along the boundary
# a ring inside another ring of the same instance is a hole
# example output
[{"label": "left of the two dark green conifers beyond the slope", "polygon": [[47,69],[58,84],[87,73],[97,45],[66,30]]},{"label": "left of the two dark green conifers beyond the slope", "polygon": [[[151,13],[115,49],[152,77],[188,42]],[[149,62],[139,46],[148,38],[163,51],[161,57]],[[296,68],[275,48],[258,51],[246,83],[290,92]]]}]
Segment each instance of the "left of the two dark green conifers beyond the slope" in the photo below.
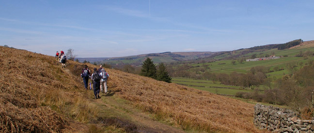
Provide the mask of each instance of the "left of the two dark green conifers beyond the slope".
[{"label": "left of the two dark green conifers beyond the slope", "polygon": [[156,66],[152,59],[148,57],[146,58],[146,60],[143,62],[140,75],[156,79]]}]

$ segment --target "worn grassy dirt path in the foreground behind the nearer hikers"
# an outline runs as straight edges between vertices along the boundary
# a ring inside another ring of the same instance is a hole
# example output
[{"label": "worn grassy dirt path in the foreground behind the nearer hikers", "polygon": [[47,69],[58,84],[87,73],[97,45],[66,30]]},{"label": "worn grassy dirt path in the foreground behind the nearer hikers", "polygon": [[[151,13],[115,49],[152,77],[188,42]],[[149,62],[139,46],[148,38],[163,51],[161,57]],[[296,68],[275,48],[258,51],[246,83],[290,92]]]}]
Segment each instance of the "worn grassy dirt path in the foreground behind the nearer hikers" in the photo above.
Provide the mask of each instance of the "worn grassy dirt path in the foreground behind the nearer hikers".
[{"label": "worn grassy dirt path in the foreground behind the nearer hikers", "polygon": [[118,115],[117,118],[134,123],[137,126],[137,133],[185,133],[182,129],[153,120],[148,113],[138,110],[114,94],[115,92],[101,94],[101,99],[94,100],[104,116]]}]

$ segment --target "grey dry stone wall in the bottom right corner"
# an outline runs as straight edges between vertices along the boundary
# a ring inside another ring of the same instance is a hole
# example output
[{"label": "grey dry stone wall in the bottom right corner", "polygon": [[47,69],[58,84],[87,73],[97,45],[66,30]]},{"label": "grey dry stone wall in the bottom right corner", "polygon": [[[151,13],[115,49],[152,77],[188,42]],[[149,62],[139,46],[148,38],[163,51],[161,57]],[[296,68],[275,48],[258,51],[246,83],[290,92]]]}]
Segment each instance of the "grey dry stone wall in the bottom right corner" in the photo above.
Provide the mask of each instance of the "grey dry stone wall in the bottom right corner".
[{"label": "grey dry stone wall in the bottom right corner", "polygon": [[300,120],[298,113],[279,107],[254,106],[254,124],[275,133],[314,133],[314,120]]}]

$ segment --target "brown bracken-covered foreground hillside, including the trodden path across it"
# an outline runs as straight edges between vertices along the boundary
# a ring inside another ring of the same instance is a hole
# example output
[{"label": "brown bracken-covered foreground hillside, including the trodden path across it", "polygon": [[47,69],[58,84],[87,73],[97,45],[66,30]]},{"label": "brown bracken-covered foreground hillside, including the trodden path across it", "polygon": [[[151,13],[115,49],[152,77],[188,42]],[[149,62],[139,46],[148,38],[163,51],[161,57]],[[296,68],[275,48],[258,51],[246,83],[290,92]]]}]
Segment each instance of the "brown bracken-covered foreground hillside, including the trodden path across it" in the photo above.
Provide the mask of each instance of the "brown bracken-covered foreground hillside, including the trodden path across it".
[{"label": "brown bracken-covered foreground hillside, including the trodden path across it", "polygon": [[54,57],[0,47],[0,64],[4,133],[263,133],[253,105],[228,97],[106,69],[110,93],[95,100],[81,63],[62,68]]}]

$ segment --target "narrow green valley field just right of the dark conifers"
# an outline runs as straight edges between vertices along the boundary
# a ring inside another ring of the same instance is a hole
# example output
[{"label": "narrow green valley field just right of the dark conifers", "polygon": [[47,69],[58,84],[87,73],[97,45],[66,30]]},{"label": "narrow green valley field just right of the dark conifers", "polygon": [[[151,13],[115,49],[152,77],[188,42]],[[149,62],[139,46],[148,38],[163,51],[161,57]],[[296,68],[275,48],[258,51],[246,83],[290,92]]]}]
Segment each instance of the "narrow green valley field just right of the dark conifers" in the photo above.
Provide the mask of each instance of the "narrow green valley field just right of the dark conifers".
[{"label": "narrow green valley field just right of the dark conifers", "polygon": [[208,91],[210,93],[217,93],[222,95],[234,96],[237,92],[253,92],[247,88],[241,88],[238,86],[223,85],[220,82],[213,82],[210,80],[195,80],[188,78],[172,78],[173,83],[186,85],[198,90]]}]

